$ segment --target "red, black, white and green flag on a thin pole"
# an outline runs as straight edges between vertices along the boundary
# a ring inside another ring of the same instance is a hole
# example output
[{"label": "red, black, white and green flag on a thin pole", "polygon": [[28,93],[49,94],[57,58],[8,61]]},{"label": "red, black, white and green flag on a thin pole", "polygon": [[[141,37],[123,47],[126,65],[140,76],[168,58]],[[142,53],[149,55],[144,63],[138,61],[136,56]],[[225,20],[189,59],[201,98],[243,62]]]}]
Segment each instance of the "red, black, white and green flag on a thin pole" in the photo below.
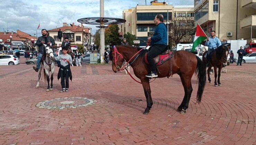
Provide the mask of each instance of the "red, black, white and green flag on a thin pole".
[{"label": "red, black, white and green flag on a thin pole", "polygon": [[203,42],[203,40],[207,39],[207,35],[204,33],[203,29],[201,28],[201,26],[199,25],[199,23],[197,23],[196,26],[196,31],[195,31],[195,38],[194,38],[194,42],[193,42],[193,47],[191,52],[193,52],[195,50],[195,48],[200,45],[201,42]]}]

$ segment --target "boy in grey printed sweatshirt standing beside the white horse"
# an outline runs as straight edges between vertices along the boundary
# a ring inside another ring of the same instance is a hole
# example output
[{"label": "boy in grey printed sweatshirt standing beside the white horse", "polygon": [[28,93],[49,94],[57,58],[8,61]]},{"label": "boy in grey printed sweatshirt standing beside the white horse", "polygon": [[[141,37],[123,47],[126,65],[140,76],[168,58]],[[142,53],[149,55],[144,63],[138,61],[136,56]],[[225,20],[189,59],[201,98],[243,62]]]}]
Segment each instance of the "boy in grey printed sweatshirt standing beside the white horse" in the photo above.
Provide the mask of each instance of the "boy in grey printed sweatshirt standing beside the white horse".
[{"label": "boy in grey printed sweatshirt standing beside the white horse", "polygon": [[72,72],[70,69],[70,65],[73,63],[71,56],[67,54],[67,47],[62,48],[62,53],[63,54],[55,57],[58,67],[60,67],[58,72],[58,79],[61,78],[61,87],[62,87],[62,90],[60,91],[60,93],[69,91],[68,78],[70,78],[70,80],[72,81]]}]

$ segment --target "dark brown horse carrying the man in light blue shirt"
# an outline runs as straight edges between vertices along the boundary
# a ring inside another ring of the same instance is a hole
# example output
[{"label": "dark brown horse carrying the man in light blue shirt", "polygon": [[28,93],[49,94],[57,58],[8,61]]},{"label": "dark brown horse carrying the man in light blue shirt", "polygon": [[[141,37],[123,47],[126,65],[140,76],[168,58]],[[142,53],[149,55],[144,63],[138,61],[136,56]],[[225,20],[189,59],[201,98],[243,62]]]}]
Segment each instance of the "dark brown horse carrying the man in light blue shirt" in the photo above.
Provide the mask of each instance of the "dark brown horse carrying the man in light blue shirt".
[{"label": "dark brown horse carrying the man in light blue shirt", "polygon": [[[204,65],[207,64],[207,59],[204,57],[206,55],[207,51],[204,52],[203,54],[203,63]],[[221,72],[221,68],[223,66],[224,63],[227,62],[227,57],[229,54],[229,50],[228,47],[225,45],[221,45],[218,48],[216,48],[213,52],[212,52],[212,57],[210,60],[210,66],[207,69],[207,74],[208,74],[208,80],[209,83],[212,83],[211,78],[210,78],[210,71],[211,71],[211,67],[214,67],[214,77],[215,77],[215,81],[214,81],[214,86],[218,87],[221,86],[220,83],[220,72]],[[217,84],[217,68],[218,68],[218,84]]]}]

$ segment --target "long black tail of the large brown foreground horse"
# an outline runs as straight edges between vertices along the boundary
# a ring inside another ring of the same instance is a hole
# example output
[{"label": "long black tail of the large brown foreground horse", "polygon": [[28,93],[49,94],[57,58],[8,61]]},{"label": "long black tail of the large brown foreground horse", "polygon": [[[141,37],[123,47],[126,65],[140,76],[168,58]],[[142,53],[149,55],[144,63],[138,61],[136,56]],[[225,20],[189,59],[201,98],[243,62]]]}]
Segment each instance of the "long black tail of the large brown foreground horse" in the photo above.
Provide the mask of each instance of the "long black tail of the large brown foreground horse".
[{"label": "long black tail of the large brown foreground horse", "polygon": [[203,90],[206,84],[206,66],[203,64],[203,61],[196,56],[197,65],[195,69],[195,73],[198,80],[198,90],[196,94],[196,102],[200,103],[203,95]]}]

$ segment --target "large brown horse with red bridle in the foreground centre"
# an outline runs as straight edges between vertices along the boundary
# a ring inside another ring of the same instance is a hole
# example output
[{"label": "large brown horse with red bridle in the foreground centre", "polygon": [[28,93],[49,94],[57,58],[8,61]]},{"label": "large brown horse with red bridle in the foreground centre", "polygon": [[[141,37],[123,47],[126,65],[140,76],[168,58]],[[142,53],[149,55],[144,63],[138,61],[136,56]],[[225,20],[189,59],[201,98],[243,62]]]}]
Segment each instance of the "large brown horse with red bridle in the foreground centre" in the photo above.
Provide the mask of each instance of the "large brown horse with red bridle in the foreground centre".
[{"label": "large brown horse with red bridle in the foreground centre", "polygon": [[[148,50],[142,50],[138,55],[136,55],[138,51],[139,50],[136,47],[117,46],[116,48],[111,48],[110,59],[112,60],[112,69],[114,72],[120,71],[120,67],[123,64],[124,59],[131,59],[131,61],[129,62],[130,66],[132,67],[135,76],[140,79],[147,100],[147,108],[145,109],[145,112],[143,114],[148,114],[150,108],[153,105],[149,78],[146,77],[150,70],[150,67],[144,61],[144,55]],[[170,64],[172,69],[171,72]],[[171,63],[166,61],[162,65],[159,65],[157,67],[160,72],[158,73],[158,78],[169,77],[170,74],[178,74],[181,78],[185,95],[177,111],[180,111],[182,114],[184,114],[189,107],[189,100],[193,91],[191,85],[191,78],[194,72],[196,73],[199,81],[196,99],[197,102],[200,103],[206,83],[206,68],[199,57],[195,56],[191,52],[183,50],[176,51],[173,53]]]}]

